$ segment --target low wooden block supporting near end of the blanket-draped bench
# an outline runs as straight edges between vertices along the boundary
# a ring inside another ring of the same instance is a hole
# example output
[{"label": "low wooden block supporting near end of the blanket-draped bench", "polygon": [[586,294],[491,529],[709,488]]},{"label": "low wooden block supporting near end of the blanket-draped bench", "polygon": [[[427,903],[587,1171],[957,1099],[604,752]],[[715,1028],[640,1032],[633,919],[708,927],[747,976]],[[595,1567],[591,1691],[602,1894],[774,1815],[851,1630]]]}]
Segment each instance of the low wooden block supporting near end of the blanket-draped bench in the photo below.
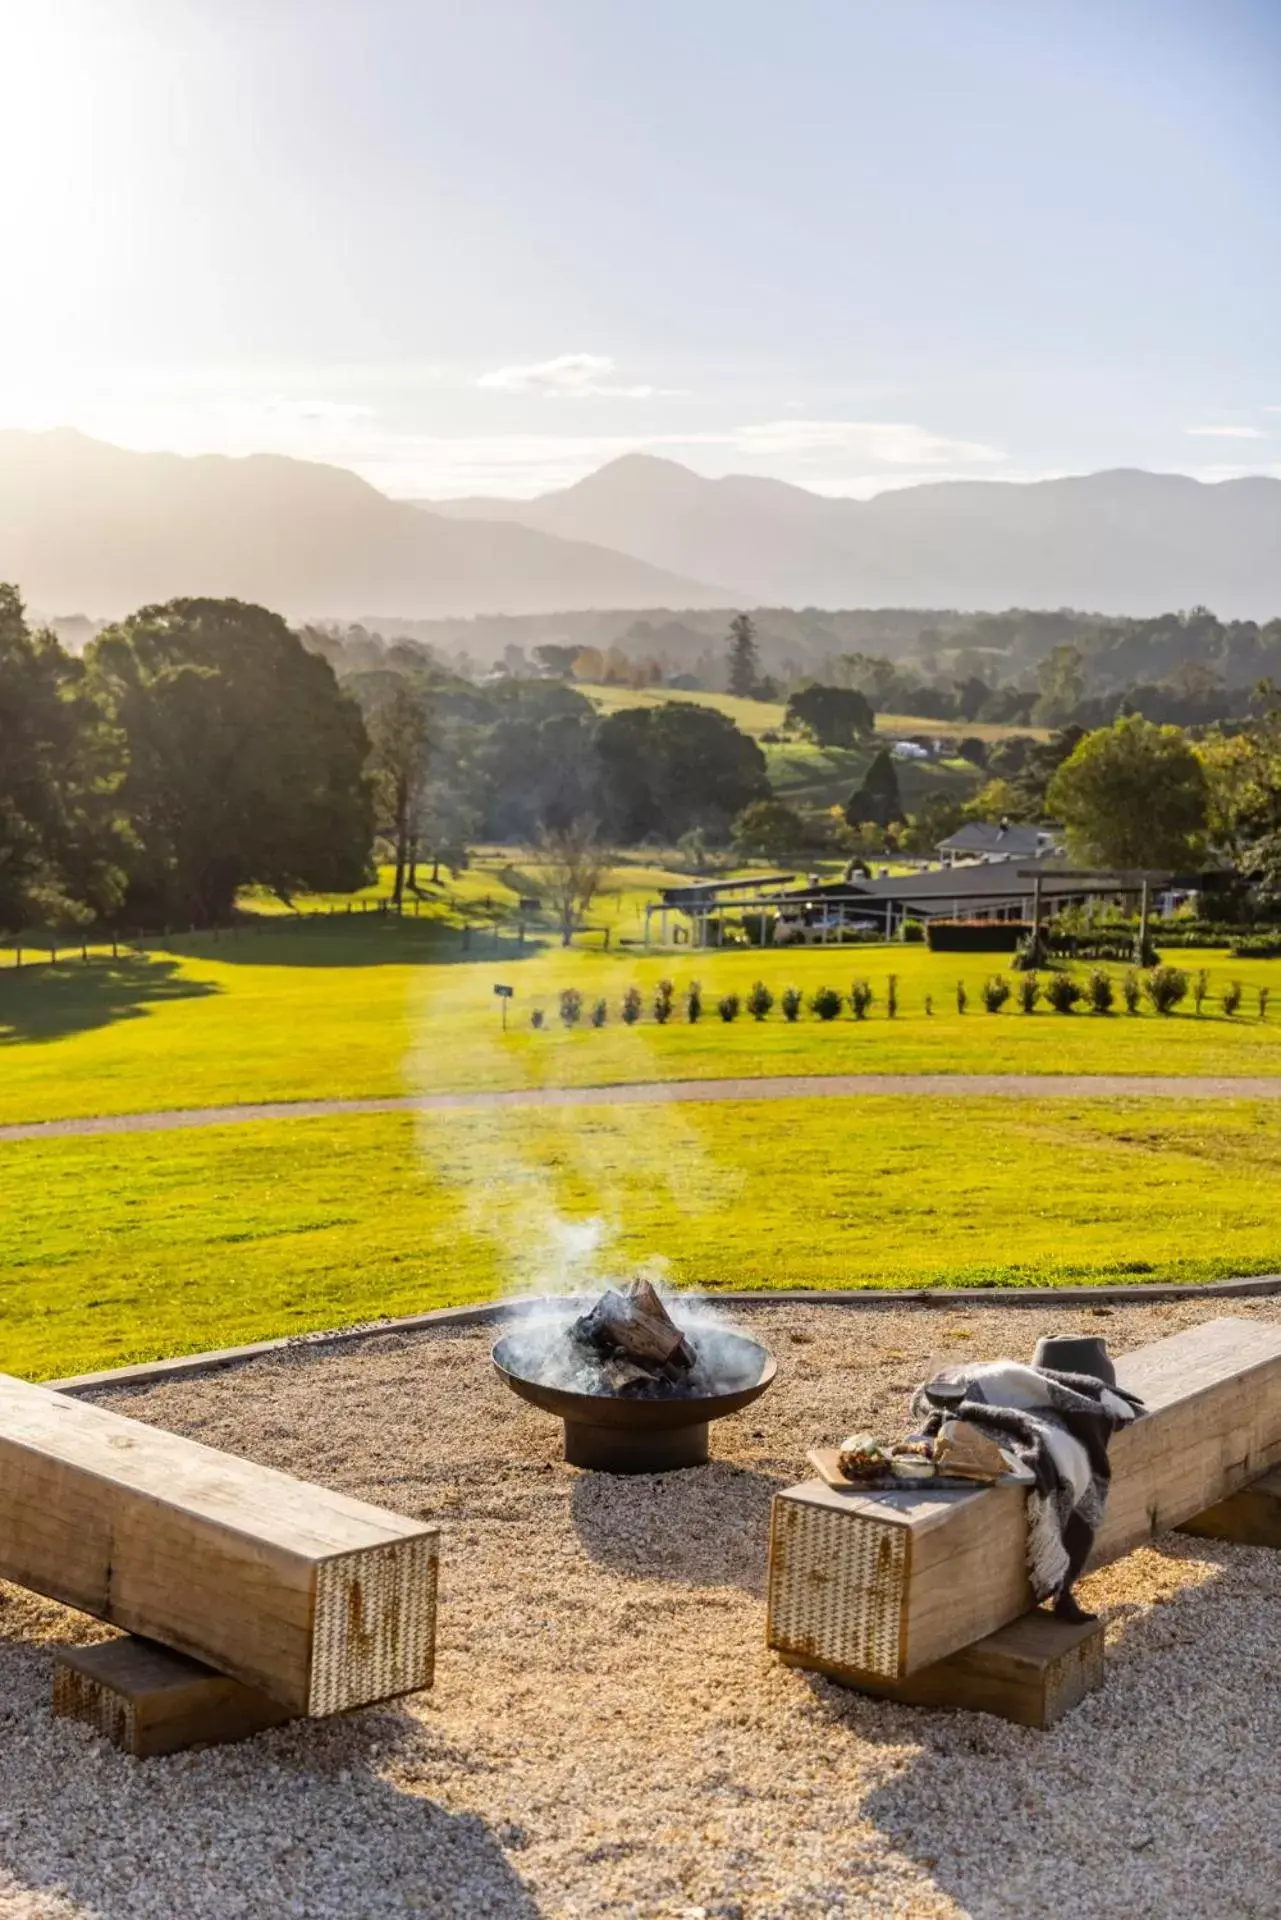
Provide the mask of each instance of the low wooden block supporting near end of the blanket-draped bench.
[{"label": "low wooden block supporting near end of the blanket-draped bench", "polygon": [[782,1659],[905,1707],[964,1707],[1016,1726],[1047,1728],[1102,1686],[1102,1620],[1072,1624],[1037,1609],[905,1680],[795,1653]]}]

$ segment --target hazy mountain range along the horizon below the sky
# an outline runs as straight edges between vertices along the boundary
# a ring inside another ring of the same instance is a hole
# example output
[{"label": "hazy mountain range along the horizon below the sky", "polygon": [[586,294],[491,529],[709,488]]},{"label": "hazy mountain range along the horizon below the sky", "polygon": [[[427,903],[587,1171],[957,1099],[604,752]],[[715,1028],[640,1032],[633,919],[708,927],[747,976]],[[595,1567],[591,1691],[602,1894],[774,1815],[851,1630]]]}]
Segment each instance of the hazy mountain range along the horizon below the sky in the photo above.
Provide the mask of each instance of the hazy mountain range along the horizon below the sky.
[{"label": "hazy mountain range along the horizon below the sky", "polygon": [[282,455],[0,432],[0,580],[42,614],[232,593],[290,618],[680,607],[1281,612],[1281,480],[1114,470],[834,499],[630,453],[538,499],[396,501]]}]

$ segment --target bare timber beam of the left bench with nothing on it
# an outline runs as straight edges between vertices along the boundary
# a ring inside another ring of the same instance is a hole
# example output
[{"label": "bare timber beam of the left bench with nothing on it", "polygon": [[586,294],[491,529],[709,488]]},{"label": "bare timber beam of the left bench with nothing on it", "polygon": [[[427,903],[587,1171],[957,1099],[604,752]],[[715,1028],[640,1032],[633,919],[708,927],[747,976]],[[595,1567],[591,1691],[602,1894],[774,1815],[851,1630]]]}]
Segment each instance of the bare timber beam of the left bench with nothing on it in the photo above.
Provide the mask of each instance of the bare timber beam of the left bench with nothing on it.
[{"label": "bare timber beam of the left bench with nothing on it", "polygon": [[[438,1532],[0,1375],[0,1578],[161,1642],[284,1718],[432,1684]],[[98,1680],[131,1678],[109,1665],[125,1653],[86,1651],[108,1661]]]}]

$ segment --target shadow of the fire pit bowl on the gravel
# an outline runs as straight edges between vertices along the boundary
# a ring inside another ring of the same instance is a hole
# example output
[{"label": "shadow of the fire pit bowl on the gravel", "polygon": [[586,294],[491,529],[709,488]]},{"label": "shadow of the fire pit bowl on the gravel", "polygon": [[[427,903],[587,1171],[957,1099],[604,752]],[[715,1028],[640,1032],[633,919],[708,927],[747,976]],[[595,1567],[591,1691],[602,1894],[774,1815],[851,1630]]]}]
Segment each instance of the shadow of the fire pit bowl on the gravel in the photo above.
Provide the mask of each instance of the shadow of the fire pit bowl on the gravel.
[{"label": "shadow of the fire pit bowl on the gravel", "polygon": [[613,1572],[762,1596],[770,1501],[793,1478],[716,1459],[680,1473],[582,1473],[570,1515],[590,1559]]}]

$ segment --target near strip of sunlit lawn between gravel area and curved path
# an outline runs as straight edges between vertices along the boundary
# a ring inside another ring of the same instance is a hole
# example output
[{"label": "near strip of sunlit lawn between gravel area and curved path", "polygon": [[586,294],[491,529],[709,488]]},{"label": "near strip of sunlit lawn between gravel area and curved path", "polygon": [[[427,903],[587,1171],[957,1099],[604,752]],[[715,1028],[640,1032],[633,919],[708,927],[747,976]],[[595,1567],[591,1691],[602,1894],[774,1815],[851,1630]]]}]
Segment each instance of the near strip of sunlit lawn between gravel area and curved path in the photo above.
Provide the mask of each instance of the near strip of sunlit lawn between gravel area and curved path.
[{"label": "near strip of sunlit lawn between gravel area and curved path", "polygon": [[54,1377],[616,1277],[1281,1267],[1281,1114],[912,1098],[277,1121],[0,1148],[0,1365]]}]

